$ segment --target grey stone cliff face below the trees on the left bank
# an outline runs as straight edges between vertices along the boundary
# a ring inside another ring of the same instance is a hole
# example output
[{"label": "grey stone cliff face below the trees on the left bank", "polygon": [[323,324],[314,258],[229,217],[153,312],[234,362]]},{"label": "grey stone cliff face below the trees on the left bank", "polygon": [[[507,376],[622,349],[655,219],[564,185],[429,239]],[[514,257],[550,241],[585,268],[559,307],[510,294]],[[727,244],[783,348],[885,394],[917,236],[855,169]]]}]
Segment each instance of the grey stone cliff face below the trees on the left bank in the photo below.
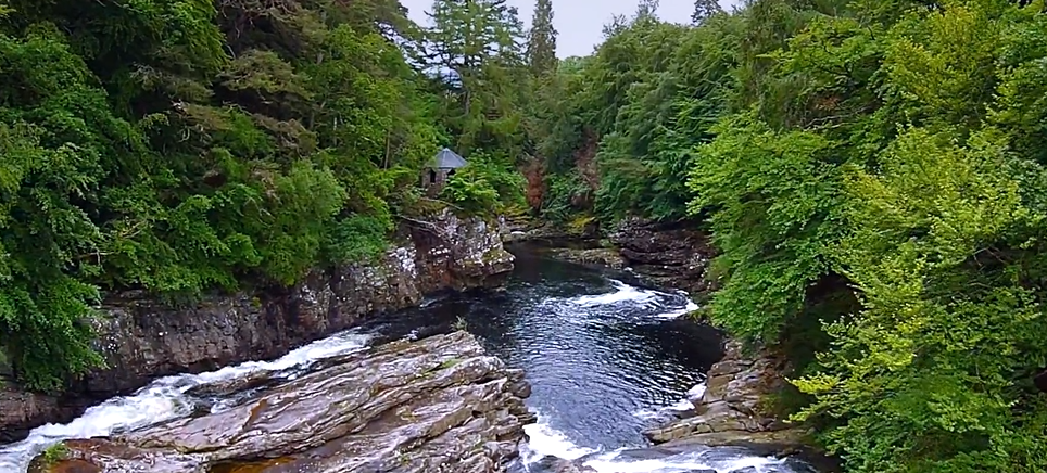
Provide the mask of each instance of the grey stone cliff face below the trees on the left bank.
[{"label": "grey stone cliff face below the trees on the left bank", "polygon": [[496,223],[443,212],[404,223],[398,237],[401,243],[375,264],[316,271],[279,291],[215,296],[188,308],[114,295],[97,321],[108,369],[61,396],[26,393],[0,380],[0,442],[66,422],[88,405],[157,376],[274,358],[365,316],[417,305],[427,294],[497,285],[513,268]]}]

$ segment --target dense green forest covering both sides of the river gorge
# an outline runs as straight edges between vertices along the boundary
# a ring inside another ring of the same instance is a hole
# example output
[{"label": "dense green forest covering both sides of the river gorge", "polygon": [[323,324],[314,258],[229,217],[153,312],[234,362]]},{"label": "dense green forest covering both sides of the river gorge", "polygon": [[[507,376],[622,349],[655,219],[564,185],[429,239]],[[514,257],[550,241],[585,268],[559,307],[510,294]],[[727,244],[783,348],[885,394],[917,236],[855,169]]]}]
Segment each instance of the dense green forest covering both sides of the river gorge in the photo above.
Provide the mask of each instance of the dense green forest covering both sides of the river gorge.
[{"label": "dense green forest covering both sides of the river gorge", "polygon": [[1044,0],[656,11],[557,59],[551,0],[0,0],[3,357],[58,389],[109,291],[375,257],[450,146],[468,212],[710,235],[702,317],[847,472],[1047,471]]}]

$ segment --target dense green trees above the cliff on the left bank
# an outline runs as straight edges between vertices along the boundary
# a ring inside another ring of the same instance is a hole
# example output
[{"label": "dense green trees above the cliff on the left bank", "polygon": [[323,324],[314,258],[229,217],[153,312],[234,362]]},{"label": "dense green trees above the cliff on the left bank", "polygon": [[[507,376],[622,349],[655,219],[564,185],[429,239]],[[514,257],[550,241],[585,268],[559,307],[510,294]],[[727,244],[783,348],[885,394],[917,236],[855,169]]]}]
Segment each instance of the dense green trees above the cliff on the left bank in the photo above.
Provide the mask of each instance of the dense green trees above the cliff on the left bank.
[{"label": "dense green trees above the cliff on the left bank", "polygon": [[382,254],[449,139],[396,7],[0,7],[0,350],[23,384],[102,363],[104,292],[287,285]]}]

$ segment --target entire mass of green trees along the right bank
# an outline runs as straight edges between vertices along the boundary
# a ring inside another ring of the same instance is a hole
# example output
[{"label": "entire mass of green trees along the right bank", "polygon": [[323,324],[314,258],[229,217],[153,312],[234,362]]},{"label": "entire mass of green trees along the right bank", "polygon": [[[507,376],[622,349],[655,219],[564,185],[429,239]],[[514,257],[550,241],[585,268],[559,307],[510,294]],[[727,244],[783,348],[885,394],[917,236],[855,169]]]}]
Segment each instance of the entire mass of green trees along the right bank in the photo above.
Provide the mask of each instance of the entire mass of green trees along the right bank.
[{"label": "entire mass of green trees along the right bank", "polygon": [[1045,3],[647,3],[537,95],[545,218],[704,217],[708,318],[846,471],[1047,470]]}]

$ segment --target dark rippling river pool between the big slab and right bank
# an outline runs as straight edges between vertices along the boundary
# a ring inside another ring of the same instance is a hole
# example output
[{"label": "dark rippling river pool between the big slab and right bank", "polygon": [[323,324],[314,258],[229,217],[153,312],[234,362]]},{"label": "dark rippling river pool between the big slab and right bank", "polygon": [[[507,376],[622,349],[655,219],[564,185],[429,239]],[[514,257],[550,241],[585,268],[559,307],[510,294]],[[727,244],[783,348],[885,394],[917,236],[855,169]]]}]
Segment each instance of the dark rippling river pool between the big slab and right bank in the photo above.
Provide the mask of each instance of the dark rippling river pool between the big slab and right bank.
[{"label": "dark rippling river pool between the big slab and right bank", "polygon": [[641,431],[669,408],[683,408],[704,381],[720,356],[718,334],[679,319],[693,307],[682,293],[516,253],[505,291],[434,302],[377,331],[425,336],[464,325],[526,371],[528,404],[544,425],[578,447],[642,445]]}]

